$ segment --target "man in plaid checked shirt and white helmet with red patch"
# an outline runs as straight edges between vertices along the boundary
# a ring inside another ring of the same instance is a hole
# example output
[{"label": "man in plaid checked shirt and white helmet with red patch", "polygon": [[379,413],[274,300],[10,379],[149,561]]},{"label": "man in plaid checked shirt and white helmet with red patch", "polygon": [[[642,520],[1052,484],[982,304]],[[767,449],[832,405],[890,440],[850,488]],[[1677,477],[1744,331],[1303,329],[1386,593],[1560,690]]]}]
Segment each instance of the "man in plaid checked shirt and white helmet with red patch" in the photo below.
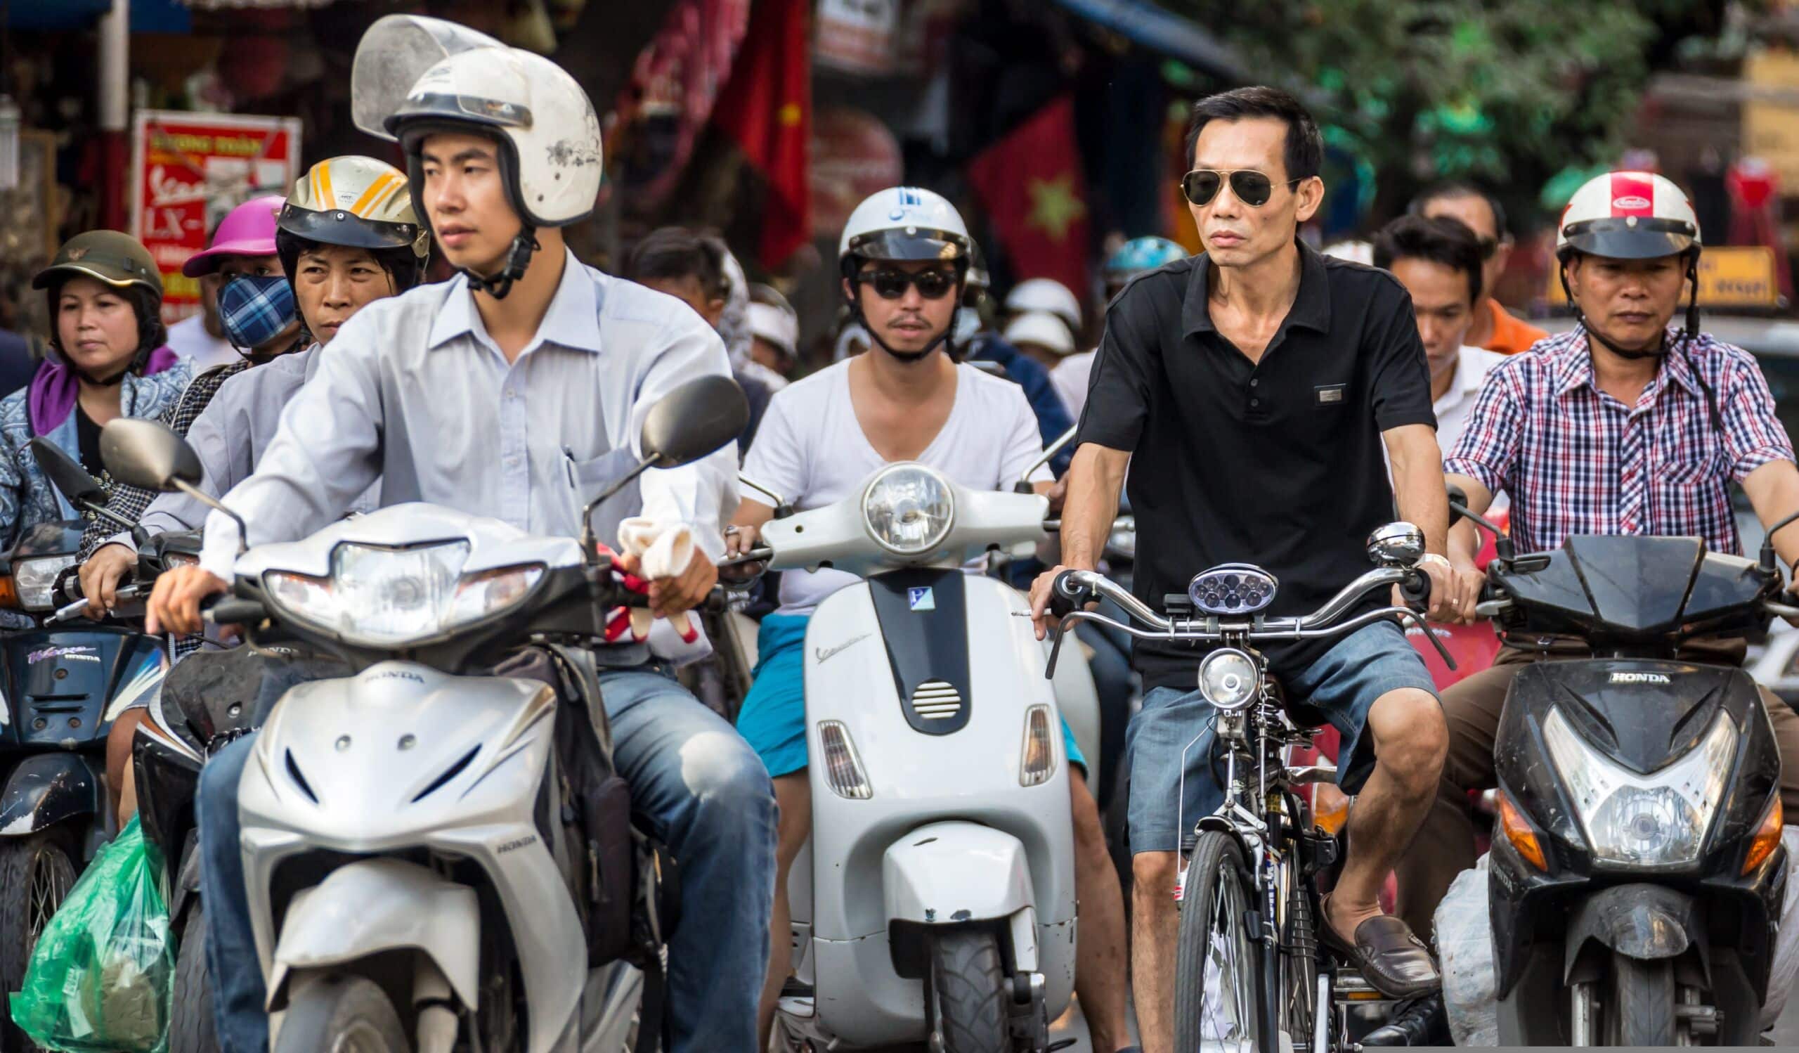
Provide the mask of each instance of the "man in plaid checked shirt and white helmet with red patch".
[{"label": "man in plaid checked shirt and white helmet with red patch", "polygon": [[[1740,553],[1731,482],[1765,526],[1799,509],[1799,466],[1756,360],[1698,331],[1698,221],[1686,194],[1646,173],[1587,184],[1563,214],[1562,279],[1574,331],[1538,342],[1488,374],[1473,418],[1445,459],[1448,482],[1482,513],[1511,497],[1518,553],[1560,549],[1569,535],[1700,536]],[[1669,329],[1682,292],[1684,328]],[[1799,529],[1774,538],[1799,558]],[[1473,524],[1450,531],[1450,560],[1477,576]],[[1473,616],[1464,605],[1463,617]],[[1743,641],[1707,641],[1696,659],[1740,662]],[[1509,639],[1495,666],[1443,691],[1450,727],[1445,794],[1398,869],[1400,914],[1430,931],[1450,880],[1475,862],[1466,790],[1493,787],[1493,736],[1526,662],[1587,657],[1567,637]],[[1781,796],[1799,806],[1799,716],[1763,689],[1783,765]]]}]

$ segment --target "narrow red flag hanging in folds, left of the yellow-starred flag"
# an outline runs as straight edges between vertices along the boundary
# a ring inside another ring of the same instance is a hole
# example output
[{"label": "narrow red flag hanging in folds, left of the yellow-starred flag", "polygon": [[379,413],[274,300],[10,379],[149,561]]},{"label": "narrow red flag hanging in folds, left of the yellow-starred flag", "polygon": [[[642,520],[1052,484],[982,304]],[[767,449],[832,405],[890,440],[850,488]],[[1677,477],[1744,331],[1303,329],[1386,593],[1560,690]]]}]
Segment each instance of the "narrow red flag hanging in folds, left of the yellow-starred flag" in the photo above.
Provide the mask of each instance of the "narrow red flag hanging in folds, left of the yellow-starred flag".
[{"label": "narrow red flag hanging in folds, left of the yellow-starred flag", "polygon": [[720,92],[712,122],[765,182],[763,234],[756,256],[777,268],[811,241],[811,54],[808,0],[756,0],[750,27]]}]

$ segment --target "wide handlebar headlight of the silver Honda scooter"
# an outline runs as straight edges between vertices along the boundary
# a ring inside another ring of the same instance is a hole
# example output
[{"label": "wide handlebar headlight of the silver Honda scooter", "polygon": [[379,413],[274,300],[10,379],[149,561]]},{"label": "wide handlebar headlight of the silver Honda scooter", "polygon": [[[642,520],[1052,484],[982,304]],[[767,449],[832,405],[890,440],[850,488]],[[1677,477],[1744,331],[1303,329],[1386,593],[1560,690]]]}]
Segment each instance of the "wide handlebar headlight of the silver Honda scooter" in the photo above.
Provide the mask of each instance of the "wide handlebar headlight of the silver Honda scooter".
[{"label": "wide handlebar headlight of the silver Honda scooter", "polygon": [[338,545],[331,576],[270,571],[268,598],[302,621],[367,644],[432,637],[518,605],[543,578],[541,563],[462,574],[468,542],[410,549]]}]

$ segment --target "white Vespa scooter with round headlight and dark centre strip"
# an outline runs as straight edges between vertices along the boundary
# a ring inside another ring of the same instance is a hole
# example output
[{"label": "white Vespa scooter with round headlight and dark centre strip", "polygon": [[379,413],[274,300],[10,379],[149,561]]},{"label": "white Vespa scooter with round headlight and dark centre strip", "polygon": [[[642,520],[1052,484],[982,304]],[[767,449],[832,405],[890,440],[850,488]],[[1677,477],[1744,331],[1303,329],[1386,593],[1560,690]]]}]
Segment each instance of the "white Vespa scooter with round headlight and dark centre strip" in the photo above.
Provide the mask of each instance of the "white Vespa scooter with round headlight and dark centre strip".
[{"label": "white Vespa scooter with round headlight and dark centre strip", "polygon": [[[1042,540],[1047,509],[896,463],[851,500],[770,520],[750,553],[865,578],[806,630],[813,830],[788,896],[813,997],[781,1001],[788,1049],[1049,1046],[1076,949],[1058,689],[1025,598],[962,572]],[[1070,673],[1092,704],[1085,664]]]}]

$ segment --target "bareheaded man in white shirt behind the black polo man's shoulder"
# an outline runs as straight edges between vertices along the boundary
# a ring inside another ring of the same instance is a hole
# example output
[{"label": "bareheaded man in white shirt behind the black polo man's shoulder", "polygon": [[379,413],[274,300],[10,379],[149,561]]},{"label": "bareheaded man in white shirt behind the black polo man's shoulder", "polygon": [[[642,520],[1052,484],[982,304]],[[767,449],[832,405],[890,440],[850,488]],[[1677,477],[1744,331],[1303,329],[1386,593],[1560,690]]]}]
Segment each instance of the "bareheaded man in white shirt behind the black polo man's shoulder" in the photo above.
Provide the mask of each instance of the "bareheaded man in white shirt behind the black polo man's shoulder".
[{"label": "bareheaded man in white shirt behind the black polo man's shoulder", "polygon": [[1400,216],[1374,236],[1374,266],[1391,270],[1412,293],[1430,362],[1437,446],[1454,450],[1486,374],[1506,360],[1464,344],[1481,302],[1481,241],[1457,220]]}]

